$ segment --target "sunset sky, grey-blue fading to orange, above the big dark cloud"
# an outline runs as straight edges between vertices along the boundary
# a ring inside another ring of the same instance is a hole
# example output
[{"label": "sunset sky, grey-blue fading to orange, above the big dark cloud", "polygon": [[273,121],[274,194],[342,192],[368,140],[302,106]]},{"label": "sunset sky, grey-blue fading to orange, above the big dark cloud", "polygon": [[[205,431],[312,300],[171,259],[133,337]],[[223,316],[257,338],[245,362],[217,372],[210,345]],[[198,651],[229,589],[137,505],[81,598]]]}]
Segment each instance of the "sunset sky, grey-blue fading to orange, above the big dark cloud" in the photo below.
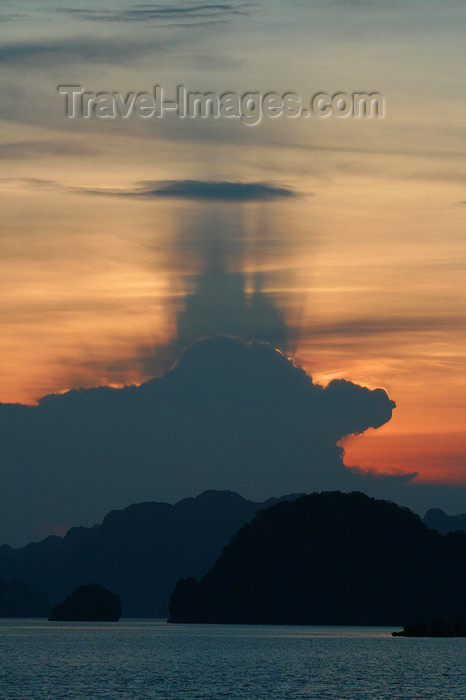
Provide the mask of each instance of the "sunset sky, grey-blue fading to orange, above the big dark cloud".
[{"label": "sunset sky, grey-blue fading to orange, above the big dark cloud", "polygon": [[[239,240],[230,265],[249,288],[263,273],[315,381],[396,402],[345,439],[345,464],[464,485],[463,3],[59,5],[0,8],[0,401],[148,379],[143,359],[173,340],[202,271],[199,232],[215,231]],[[68,119],[59,85],[378,92],[386,114]]]}]

